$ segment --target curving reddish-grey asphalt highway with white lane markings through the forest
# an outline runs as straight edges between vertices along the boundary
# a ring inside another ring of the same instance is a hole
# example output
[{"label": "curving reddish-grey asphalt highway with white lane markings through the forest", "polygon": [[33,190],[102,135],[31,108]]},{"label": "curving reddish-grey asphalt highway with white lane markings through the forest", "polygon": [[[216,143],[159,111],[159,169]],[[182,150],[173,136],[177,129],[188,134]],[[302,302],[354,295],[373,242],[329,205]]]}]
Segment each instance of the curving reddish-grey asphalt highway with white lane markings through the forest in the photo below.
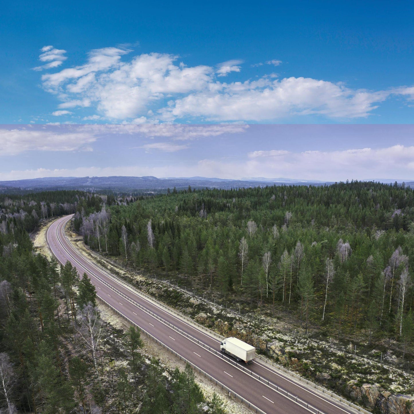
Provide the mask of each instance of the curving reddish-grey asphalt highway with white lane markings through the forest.
[{"label": "curving reddish-grey asphalt highway with white lane markings through the forest", "polygon": [[260,359],[246,366],[223,356],[219,351],[220,340],[208,330],[181,318],[85,258],[65,238],[65,225],[71,218],[72,215],[62,217],[48,228],[46,239],[57,260],[62,264],[69,260],[80,275],[86,272],[99,298],[260,411],[266,414],[356,412]]}]

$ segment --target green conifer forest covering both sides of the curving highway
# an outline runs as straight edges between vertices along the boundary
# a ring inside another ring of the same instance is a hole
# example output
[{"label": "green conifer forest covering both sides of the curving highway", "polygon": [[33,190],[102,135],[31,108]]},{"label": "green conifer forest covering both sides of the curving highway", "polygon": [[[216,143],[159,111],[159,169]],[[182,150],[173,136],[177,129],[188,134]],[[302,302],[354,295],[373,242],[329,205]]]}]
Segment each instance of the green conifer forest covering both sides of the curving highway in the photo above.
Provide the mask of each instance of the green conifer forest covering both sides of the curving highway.
[{"label": "green conifer forest covering both sides of the curving highway", "polygon": [[[206,407],[189,367],[166,375],[142,354],[137,330],[101,320],[87,277],[36,253],[31,233],[72,213],[87,245],[136,272],[286,320],[303,337],[358,338],[371,349],[392,342],[412,366],[414,198],[404,184],[174,188],[145,197],[56,191],[1,195],[0,207],[7,413]],[[94,338],[85,334],[91,323]],[[207,405],[223,412],[217,396]]]}]

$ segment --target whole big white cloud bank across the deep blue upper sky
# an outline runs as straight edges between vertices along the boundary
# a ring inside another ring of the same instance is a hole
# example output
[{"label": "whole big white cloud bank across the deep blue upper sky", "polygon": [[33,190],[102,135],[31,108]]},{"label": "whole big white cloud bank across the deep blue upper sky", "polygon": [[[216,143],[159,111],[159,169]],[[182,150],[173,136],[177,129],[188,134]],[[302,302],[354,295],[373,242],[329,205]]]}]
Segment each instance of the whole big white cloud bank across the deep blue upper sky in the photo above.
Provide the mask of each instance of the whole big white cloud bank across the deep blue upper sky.
[{"label": "whole big white cloud bank across the deep blue upper sky", "polygon": [[[57,62],[63,52],[46,46],[42,59]],[[130,52],[127,46],[93,50],[83,65],[44,74],[43,88],[61,101],[59,109],[92,107],[98,116],[136,124],[265,122],[309,115],[352,120],[368,117],[392,95],[414,99],[414,87],[371,91],[321,79],[275,79],[274,74],[221,82],[231,72],[240,72],[241,60],[188,67],[178,62],[178,56],[166,53],[143,53],[125,61]]]}]

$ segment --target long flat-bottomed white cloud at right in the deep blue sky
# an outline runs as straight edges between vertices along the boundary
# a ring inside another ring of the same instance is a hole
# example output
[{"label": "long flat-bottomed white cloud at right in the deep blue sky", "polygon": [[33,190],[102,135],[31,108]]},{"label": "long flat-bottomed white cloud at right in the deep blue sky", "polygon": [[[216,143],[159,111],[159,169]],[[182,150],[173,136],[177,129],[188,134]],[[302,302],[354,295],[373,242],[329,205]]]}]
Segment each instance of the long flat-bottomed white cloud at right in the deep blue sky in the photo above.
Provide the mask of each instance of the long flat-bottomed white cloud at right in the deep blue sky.
[{"label": "long flat-bottomed white cloud at right in the deep blue sky", "polygon": [[189,94],[162,112],[167,119],[202,117],[208,121],[265,121],[309,114],[352,119],[367,117],[388,95],[312,78],[262,78],[224,84],[220,91]]}]

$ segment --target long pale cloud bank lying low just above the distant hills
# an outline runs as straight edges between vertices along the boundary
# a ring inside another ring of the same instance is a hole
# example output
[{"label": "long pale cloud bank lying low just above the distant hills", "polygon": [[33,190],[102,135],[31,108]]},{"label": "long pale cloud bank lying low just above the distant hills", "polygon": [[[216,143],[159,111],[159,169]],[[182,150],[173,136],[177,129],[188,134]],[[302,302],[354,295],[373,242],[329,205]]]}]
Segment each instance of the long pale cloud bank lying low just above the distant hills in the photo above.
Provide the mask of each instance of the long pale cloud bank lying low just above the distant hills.
[{"label": "long pale cloud bank lying low just above the distant hills", "polygon": [[[158,144],[158,143],[156,143]],[[163,143],[161,143],[163,144]],[[151,149],[160,149],[153,147]],[[165,150],[165,149],[164,149]],[[159,166],[130,165],[115,167],[84,166],[79,168],[47,169],[0,173],[0,180],[53,176],[147,176],[156,177],[289,177],[323,181],[347,179],[414,178],[414,146],[395,145],[387,148],[347,149],[344,151],[284,150],[256,151],[237,161],[201,159],[193,163],[163,163]]]}]

